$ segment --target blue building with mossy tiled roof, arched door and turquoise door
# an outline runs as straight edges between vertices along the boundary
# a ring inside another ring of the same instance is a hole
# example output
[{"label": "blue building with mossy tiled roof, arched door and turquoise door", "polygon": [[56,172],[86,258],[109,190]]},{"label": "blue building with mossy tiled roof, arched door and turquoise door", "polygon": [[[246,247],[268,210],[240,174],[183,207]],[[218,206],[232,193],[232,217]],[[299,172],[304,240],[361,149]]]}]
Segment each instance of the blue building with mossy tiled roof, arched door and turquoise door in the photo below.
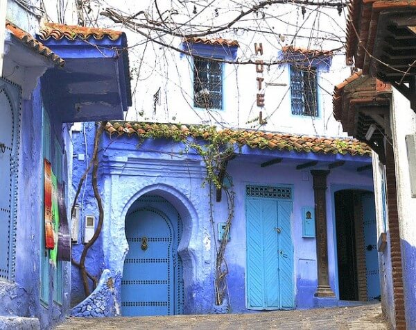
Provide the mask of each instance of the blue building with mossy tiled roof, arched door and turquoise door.
[{"label": "blue building with mossy tiled roof, arched door and turquoise door", "polygon": [[[95,131],[90,122],[73,132],[73,188]],[[144,122],[109,122],[105,131],[98,174],[104,221],[87,268],[112,277],[115,314],[248,313],[380,299],[372,160],[363,143]],[[214,140],[227,154],[214,169],[222,189],[207,183],[204,150]],[[73,221],[76,260],[97,222],[86,187]],[[229,218],[218,306],[216,260]],[[81,302],[72,274],[73,303],[80,302],[73,313],[90,315],[92,301]]]}]

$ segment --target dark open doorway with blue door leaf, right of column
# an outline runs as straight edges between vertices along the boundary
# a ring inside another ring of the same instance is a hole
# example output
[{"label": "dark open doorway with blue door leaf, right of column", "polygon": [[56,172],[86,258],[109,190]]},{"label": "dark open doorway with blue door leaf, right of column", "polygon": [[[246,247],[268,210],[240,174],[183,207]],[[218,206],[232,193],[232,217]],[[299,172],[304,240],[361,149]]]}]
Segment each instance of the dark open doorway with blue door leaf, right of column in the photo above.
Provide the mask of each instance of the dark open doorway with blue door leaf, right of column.
[{"label": "dark open doorway with blue door leaf, right of column", "polygon": [[335,214],[340,299],[380,299],[374,194],[336,192]]}]

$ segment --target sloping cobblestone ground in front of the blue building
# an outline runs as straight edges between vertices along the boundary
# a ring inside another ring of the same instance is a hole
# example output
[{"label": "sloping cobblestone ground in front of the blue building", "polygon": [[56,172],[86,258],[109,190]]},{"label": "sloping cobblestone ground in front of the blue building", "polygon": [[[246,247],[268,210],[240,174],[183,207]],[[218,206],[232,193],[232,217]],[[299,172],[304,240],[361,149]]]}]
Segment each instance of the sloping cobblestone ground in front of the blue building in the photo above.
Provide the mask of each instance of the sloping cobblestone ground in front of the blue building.
[{"label": "sloping cobblestone ground in front of the blue building", "polygon": [[389,329],[380,304],[252,314],[157,317],[69,317],[55,329]]}]

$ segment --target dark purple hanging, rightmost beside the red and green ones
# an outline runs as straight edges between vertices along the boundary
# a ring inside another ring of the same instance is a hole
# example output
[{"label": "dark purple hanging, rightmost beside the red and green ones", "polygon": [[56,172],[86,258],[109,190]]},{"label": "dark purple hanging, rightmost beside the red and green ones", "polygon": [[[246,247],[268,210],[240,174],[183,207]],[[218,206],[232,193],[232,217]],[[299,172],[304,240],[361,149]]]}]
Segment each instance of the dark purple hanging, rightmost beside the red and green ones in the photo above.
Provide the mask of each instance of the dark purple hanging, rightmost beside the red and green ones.
[{"label": "dark purple hanging, rightmost beside the red and green ones", "polygon": [[67,206],[64,199],[65,185],[58,183],[59,231],[58,231],[58,259],[71,261],[71,236],[67,217]]}]

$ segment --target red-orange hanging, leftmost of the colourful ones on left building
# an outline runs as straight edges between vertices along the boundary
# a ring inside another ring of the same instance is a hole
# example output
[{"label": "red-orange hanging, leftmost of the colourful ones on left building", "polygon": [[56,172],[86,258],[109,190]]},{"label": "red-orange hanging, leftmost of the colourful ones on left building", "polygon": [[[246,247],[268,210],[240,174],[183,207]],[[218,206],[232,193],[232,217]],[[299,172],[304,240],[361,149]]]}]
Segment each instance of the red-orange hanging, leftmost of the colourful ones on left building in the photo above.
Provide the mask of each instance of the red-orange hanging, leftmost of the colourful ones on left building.
[{"label": "red-orange hanging, leftmost of the colourful ones on left building", "polygon": [[45,220],[45,247],[53,249],[55,239],[52,218],[52,168],[49,160],[44,160],[44,220]]}]

